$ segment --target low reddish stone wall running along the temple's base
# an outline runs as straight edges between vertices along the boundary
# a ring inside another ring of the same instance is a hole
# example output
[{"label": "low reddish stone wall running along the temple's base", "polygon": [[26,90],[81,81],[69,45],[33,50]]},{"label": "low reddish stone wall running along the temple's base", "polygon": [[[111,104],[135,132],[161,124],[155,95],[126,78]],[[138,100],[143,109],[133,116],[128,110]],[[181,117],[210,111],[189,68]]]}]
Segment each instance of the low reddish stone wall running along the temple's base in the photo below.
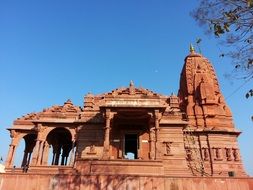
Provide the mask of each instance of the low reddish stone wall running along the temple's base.
[{"label": "low reddish stone wall running along the temple's base", "polygon": [[253,178],[0,174],[0,190],[251,190]]}]

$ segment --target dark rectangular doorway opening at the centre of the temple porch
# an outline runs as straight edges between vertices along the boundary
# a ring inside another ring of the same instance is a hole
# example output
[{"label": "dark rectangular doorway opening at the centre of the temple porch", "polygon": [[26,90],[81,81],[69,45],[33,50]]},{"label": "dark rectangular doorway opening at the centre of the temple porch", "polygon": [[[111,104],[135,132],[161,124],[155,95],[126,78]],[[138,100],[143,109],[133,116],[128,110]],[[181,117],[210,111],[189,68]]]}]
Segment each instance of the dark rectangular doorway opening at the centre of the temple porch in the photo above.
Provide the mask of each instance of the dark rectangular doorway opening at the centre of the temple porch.
[{"label": "dark rectangular doorway opening at the centre of the temple porch", "polygon": [[137,159],[138,158],[138,135],[126,134],[125,135],[125,158]]}]

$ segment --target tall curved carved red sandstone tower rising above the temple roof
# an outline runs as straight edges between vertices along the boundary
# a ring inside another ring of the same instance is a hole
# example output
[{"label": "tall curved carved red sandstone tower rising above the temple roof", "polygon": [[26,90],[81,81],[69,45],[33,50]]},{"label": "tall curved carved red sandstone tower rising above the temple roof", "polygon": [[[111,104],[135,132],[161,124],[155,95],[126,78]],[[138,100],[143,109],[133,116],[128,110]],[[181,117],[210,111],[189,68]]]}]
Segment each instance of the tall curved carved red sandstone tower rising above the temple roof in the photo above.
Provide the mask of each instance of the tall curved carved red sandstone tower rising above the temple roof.
[{"label": "tall curved carved red sandstone tower rising above the temple roof", "polygon": [[186,57],[178,95],[180,108],[188,115],[191,125],[232,130],[232,117],[224,99],[220,98],[222,94],[214,69],[202,55],[192,52]]}]

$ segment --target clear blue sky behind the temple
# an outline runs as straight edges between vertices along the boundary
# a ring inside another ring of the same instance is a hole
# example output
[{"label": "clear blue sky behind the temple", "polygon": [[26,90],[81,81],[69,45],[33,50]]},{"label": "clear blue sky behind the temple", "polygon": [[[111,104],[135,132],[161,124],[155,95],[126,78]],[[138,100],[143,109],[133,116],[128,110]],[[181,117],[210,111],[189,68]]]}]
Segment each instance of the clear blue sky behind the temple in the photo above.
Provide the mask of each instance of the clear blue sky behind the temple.
[{"label": "clear blue sky behind the temple", "polygon": [[[0,156],[5,159],[15,118],[68,98],[82,106],[88,92],[136,86],[177,93],[189,44],[202,38],[201,51],[214,65],[225,97],[243,81],[229,80],[230,61],[222,47],[190,17],[197,1],[1,1]],[[250,120],[251,83],[226,101],[239,137],[242,159],[253,175]],[[19,150],[18,155],[23,150]]]}]

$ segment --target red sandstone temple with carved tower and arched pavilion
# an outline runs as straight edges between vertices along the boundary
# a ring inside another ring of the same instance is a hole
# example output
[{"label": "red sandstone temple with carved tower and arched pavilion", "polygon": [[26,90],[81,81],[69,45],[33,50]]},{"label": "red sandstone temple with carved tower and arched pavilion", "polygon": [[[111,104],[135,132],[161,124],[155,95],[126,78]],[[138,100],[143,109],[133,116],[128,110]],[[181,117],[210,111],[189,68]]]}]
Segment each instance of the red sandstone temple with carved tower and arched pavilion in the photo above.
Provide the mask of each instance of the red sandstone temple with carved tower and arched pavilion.
[{"label": "red sandstone temple with carved tower and arched pavilion", "polygon": [[[8,130],[2,185],[9,189],[15,189],[10,179],[18,189],[253,188],[214,68],[193,49],[177,96],[131,81],[105,94],[87,94],[82,107],[67,100],[27,114]],[[13,169],[21,139],[25,172]]]}]

